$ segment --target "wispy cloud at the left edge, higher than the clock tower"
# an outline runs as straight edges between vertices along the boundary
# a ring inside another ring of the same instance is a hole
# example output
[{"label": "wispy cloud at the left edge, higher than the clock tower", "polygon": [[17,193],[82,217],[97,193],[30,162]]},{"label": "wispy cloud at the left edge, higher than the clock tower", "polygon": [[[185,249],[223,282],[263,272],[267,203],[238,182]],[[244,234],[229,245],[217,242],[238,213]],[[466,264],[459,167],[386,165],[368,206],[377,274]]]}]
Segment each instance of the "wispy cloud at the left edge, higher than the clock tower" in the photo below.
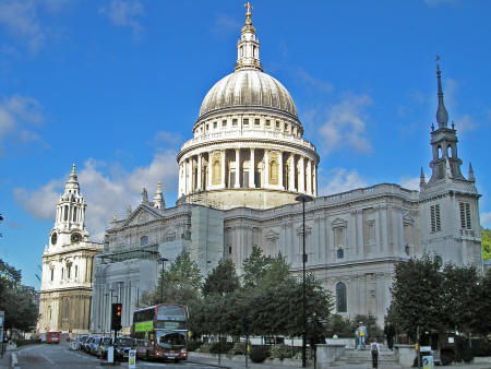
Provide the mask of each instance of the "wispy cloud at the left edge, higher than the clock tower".
[{"label": "wispy cloud at the left edge, higher than the clock tower", "polygon": [[0,151],[8,136],[20,142],[40,142],[48,146],[43,139],[33,131],[45,120],[43,106],[32,97],[13,95],[0,100]]}]

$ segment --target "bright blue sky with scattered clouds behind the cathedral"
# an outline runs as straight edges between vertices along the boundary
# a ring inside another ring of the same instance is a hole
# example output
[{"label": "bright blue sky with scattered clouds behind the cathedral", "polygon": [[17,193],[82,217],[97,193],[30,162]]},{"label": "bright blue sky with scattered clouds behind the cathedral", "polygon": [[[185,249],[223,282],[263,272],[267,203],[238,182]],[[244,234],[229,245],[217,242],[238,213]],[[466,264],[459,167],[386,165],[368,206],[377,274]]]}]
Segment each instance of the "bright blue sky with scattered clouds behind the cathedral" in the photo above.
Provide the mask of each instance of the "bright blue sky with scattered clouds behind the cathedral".
[{"label": "bright blue sky with scattered clouds behind the cathedral", "polygon": [[[38,287],[72,163],[100,240],[163,182],[206,92],[230,73],[244,1],[0,0],[0,258]],[[320,194],[430,174],[435,55],[481,224],[491,227],[491,2],[254,1],[266,73],[321,155]],[[488,142],[489,143],[489,142]]]}]

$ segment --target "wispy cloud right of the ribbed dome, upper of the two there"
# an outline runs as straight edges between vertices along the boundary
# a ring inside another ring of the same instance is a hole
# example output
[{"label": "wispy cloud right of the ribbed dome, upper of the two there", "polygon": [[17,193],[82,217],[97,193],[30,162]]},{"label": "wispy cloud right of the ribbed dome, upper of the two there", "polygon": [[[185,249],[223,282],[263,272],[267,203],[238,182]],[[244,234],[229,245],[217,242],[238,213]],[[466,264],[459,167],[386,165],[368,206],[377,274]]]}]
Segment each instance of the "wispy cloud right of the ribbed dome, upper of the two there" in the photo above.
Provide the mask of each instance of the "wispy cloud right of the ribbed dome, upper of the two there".
[{"label": "wispy cloud right of the ribbed dome, upper of the two there", "polygon": [[368,95],[348,95],[327,112],[327,121],[320,128],[325,154],[337,147],[352,147],[368,153],[372,145],[367,138],[367,107],[372,100]]}]

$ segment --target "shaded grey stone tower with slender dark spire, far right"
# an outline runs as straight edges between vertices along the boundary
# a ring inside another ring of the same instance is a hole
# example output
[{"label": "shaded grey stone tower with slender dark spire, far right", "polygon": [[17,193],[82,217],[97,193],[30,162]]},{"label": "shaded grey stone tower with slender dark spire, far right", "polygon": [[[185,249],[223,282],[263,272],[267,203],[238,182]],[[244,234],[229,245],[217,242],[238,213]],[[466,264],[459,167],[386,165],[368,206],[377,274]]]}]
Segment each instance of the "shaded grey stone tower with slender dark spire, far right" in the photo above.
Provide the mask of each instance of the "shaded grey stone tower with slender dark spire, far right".
[{"label": "shaded grey stone tower with slender dark spire, far right", "polygon": [[[436,57],[436,61],[440,58]],[[436,129],[431,124],[431,177],[420,175],[421,246],[426,253],[456,264],[472,263],[482,267],[479,198],[472,166],[469,176],[462,175],[457,155],[457,130],[448,124],[443,102],[440,63],[436,63]]]}]

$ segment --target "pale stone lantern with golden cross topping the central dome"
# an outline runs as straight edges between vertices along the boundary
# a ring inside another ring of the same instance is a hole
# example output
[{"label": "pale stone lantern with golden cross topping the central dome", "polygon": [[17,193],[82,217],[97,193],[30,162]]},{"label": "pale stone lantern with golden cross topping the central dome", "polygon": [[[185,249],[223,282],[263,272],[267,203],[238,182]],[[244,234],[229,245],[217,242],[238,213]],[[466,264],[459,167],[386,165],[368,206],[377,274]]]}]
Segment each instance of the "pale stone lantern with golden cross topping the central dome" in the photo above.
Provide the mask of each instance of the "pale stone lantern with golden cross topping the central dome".
[{"label": "pale stone lantern with golden cross topping the central dome", "polygon": [[261,61],[259,58],[260,43],[255,37],[255,28],[252,26],[251,21],[252,5],[248,1],[244,7],[248,10],[246,12],[246,25],[242,27],[242,31],[240,32],[240,39],[237,43],[237,62],[233,70],[258,69],[262,71],[263,68],[261,67]]}]

